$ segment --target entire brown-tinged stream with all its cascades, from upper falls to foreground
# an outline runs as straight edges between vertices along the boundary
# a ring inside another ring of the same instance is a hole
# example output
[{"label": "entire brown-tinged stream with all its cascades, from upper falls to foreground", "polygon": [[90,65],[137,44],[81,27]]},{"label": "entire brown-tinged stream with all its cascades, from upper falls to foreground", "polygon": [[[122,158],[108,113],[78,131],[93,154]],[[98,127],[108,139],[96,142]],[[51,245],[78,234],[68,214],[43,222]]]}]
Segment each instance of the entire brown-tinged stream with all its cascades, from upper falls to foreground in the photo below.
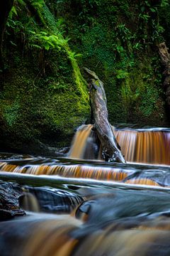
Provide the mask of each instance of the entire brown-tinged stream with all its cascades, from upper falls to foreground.
[{"label": "entire brown-tinged stream with all its cascades, from upper falls to foreground", "polygon": [[170,255],[170,130],[115,129],[128,161],[101,161],[91,125],[65,158],[0,154],[23,217],[0,222],[1,256]]}]

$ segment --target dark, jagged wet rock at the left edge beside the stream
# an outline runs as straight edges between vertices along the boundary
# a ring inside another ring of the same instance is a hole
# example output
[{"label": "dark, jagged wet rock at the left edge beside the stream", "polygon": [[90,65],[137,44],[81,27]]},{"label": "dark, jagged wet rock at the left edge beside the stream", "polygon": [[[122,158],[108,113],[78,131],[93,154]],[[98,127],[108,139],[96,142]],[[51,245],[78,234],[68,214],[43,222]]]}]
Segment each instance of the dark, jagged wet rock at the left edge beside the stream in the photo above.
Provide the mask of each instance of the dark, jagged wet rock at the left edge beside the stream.
[{"label": "dark, jagged wet rock at the left edge beside the stream", "polygon": [[0,180],[0,221],[26,214],[19,206],[22,195],[23,191],[18,184]]}]

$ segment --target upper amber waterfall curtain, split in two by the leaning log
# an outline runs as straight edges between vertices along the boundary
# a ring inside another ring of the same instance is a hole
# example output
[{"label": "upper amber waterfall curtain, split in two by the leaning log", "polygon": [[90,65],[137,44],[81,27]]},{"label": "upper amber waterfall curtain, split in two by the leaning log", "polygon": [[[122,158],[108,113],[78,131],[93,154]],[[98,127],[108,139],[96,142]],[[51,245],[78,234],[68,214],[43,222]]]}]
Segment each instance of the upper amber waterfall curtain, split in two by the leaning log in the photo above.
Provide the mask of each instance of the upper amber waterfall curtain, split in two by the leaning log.
[{"label": "upper amber waterfall curtain, split in two by the leaning log", "polygon": [[[69,157],[100,159],[100,143],[92,125],[79,127]],[[170,132],[166,129],[113,129],[126,161],[143,164],[170,164]]]}]

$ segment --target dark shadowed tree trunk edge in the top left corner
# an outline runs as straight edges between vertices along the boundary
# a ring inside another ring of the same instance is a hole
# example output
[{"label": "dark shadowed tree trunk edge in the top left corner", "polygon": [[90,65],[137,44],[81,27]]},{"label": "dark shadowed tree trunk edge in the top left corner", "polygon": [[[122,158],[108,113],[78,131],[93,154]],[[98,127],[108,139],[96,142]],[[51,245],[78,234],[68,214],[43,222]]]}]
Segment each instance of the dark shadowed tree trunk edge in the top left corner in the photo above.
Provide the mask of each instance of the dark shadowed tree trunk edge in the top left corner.
[{"label": "dark shadowed tree trunk edge in the top left corner", "polygon": [[13,6],[13,0],[1,0],[0,1],[0,69],[4,68],[3,61],[3,40],[4,40],[4,31],[6,28],[6,21],[8,14],[11,11]]}]

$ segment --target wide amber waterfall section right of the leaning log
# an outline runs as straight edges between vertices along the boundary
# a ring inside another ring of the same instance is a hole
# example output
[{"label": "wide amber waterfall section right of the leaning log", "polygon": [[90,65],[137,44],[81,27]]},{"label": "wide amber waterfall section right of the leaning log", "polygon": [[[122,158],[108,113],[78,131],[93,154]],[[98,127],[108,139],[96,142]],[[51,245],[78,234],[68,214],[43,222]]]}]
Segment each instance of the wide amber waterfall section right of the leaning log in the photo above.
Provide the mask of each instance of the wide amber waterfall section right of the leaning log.
[{"label": "wide amber waterfall section right of the leaning log", "polygon": [[144,164],[170,164],[170,132],[164,130],[118,130],[115,137],[125,159]]}]

